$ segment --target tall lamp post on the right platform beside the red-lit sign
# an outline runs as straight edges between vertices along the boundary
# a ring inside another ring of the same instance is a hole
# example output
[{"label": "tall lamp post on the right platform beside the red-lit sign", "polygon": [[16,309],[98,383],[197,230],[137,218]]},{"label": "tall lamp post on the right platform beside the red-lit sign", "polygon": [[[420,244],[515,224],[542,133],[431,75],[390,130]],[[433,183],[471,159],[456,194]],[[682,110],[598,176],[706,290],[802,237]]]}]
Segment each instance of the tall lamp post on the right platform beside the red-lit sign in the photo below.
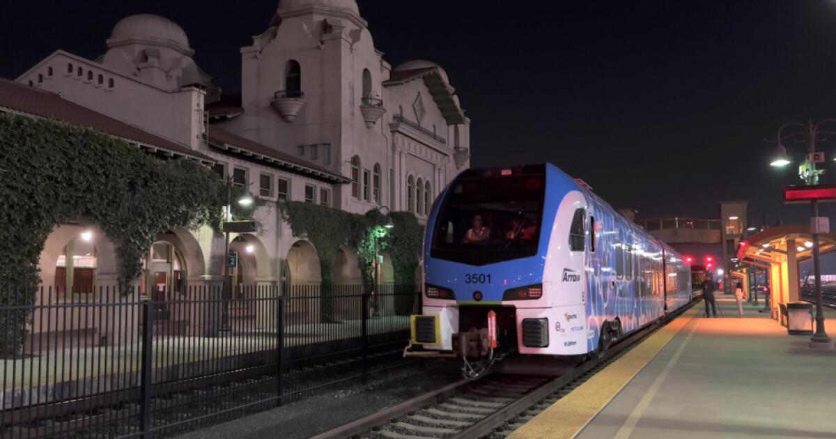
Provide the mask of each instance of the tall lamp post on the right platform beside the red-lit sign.
[{"label": "tall lamp post on the right platform beside the red-lit sign", "polygon": [[[775,155],[772,157],[770,165],[782,167],[787,166],[792,162],[792,159],[787,155],[787,149],[781,144],[781,140],[796,137],[798,142],[807,142],[807,159],[798,166],[798,176],[808,186],[818,185],[818,176],[824,173],[824,170],[817,170],[816,163],[824,161],[823,154],[816,151],[816,143],[819,140],[819,135],[836,135],[836,132],[822,130],[822,124],[825,122],[836,122],[836,119],[823,119],[813,124],[809,121],[807,124],[801,122],[787,122],[778,128],[777,145],[775,146]],[[800,127],[801,131],[796,131],[793,134],[782,136],[782,130],[789,126]],[[836,157],[834,157],[836,160]],[[824,309],[822,301],[822,278],[821,278],[821,264],[819,263],[819,244],[818,244],[818,202],[812,200],[810,202],[810,228],[813,232],[813,277],[815,278],[814,292],[816,296],[816,332],[813,338],[810,339],[810,347],[815,349],[833,349],[833,340],[828,337],[824,330]]]}]

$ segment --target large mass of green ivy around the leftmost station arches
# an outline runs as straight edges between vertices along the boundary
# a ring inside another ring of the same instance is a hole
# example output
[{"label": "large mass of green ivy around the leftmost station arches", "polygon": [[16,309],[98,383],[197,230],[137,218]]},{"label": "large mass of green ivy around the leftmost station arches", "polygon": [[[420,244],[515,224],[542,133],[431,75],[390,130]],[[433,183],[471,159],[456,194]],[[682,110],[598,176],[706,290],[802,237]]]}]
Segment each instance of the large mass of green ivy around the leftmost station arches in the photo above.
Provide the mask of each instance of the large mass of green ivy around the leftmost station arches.
[{"label": "large mass of green ivy around the leftmost station arches", "polygon": [[[158,233],[218,227],[225,200],[222,181],[195,161],[163,161],[99,131],[0,114],[0,304],[34,303],[38,260],[60,224],[104,231],[125,292]],[[0,327],[13,331],[0,353],[19,349],[29,317],[0,315]]]}]

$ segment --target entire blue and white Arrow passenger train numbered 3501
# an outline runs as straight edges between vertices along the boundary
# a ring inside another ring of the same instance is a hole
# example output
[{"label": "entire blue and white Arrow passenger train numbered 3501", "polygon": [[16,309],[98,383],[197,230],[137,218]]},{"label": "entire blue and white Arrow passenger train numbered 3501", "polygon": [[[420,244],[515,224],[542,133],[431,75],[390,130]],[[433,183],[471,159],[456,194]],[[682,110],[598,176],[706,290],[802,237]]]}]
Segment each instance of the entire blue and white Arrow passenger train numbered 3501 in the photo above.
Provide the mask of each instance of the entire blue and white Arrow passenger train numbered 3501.
[{"label": "entire blue and white Arrow passenger train numbered 3501", "polygon": [[553,164],[462,171],[425,233],[406,355],[471,377],[505,355],[603,355],[692,299],[681,254]]}]

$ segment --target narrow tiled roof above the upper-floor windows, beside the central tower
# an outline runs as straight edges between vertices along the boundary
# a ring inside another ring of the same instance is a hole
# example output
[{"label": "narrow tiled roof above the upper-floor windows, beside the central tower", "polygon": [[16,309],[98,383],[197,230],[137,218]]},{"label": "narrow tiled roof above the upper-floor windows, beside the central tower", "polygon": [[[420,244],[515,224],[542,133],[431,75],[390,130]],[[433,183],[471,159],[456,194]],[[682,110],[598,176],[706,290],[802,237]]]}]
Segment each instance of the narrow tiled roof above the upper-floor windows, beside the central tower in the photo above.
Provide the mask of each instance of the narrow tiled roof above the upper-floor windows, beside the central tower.
[{"label": "narrow tiled roof above the upper-floor windows, beside the central tower", "polygon": [[289,171],[298,174],[307,174],[320,180],[339,183],[351,181],[348,177],[342,176],[323,166],[299,160],[297,157],[274,150],[267,145],[262,145],[240,135],[232,134],[217,125],[209,125],[209,145],[222,150],[237,152],[243,156],[251,156],[259,161],[267,161],[275,166],[287,168]]}]

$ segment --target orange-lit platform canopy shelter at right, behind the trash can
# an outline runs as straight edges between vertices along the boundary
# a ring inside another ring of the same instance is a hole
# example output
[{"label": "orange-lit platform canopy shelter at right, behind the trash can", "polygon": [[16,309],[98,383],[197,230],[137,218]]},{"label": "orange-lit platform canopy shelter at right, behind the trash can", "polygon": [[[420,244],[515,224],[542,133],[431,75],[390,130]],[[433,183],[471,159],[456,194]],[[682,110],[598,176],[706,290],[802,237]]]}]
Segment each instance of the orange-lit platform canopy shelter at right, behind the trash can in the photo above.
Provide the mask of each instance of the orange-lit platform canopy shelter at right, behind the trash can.
[{"label": "orange-lit platform canopy shelter at right, behind the trash can", "polygon": [[[836,251],[836,234],[819,234],[821,254]],[[780,304],[787,304],[799,299],[798,263],[813,258],[813,234],[809,226],[779,226],[757,232],[737,248],[737,259],[741,267],[732,272],[732,276],[747,279],[748,267],[767,270],[772,292],[772,314],[777,313]]]}]

